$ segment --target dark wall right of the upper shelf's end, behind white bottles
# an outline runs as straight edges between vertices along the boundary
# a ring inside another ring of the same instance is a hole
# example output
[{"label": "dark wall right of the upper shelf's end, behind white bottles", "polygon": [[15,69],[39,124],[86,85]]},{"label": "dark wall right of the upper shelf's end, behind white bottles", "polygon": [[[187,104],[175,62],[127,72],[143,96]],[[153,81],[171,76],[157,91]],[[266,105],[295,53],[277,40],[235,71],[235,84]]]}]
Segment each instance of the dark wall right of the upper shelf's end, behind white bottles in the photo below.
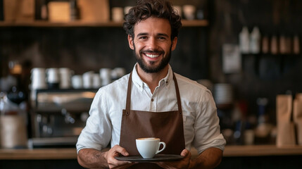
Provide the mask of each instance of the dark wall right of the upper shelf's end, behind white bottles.
[{"label": "dark wall right of the upper shelf's end, behind white bottles", "polygon": [[[210,79],[234,85],[236,99],[248,103],[248,113],[257,114],[256,99],[268,98],[268,113],[275,121],[277,94],[302,92],[302,56],[244,55],[239,73],[222,72],[222,44],[239,44],[239,32],[258,26],[261,35],[302,35],[302,1],[298,0],[215,0],[210,1]],[[301,44],[300,44],[301,48]]]}]

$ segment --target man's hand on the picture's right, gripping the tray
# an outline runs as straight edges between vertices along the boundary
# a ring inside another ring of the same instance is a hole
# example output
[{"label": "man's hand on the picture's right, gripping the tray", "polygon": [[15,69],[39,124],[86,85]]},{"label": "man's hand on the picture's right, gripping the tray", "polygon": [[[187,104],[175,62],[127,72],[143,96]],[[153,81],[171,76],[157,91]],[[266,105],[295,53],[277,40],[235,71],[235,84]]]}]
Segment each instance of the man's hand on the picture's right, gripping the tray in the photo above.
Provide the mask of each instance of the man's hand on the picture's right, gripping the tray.
[{"label": "man's hand on the picture's right, gripping the tray", "polygon": [[168,162],[156,162],[157,165],[161,166],[162,168],[167,169],[187,169],[189,168],[191,162],[191,153],[187,149],[184,149],[181,156],[184,156],[181,161],[168,161]]}]

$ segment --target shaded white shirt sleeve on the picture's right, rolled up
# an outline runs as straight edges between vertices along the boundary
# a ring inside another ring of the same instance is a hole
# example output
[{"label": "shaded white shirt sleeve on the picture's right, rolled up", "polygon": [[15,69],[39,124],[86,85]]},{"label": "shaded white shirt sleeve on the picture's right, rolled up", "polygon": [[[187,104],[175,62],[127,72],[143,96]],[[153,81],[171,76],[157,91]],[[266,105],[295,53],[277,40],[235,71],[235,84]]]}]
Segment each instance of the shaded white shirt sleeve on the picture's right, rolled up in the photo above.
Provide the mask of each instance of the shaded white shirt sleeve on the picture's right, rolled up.
[{"label": "shaded white shirt sleeve on the picture's right, rolled up", "polygon": [[199,154],[210,147],[216,147],[224,151],[226,142],[220,133],[217,108],[208,89],[201,95],[199,108],[196,109],[199,112],[196,112],[196,121],[194,123],[195,137],[193,146]]}]

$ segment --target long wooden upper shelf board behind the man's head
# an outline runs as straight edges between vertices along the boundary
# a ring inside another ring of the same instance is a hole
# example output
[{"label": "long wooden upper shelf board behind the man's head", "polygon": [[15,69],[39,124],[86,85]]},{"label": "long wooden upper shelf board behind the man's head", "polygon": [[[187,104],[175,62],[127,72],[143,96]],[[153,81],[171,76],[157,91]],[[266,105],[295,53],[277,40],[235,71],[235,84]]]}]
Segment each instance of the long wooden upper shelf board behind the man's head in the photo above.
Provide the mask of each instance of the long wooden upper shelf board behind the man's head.
[{"label": "long wooden upper shelf board behind the man's head", "polygon": [[[183,27],[206,27],[208,20],[182,20]],[[122,27],[122,22],[88,23],[73,21],[69,23],[51,23],[48,21],[0,21],[0,27]]]}]

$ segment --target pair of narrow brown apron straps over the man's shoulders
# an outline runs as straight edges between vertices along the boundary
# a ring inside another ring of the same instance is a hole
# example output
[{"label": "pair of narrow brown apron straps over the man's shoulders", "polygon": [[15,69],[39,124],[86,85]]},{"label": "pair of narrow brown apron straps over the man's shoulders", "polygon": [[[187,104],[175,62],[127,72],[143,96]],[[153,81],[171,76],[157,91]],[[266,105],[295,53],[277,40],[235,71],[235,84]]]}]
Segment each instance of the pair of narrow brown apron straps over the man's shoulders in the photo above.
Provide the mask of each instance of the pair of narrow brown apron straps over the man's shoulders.
[{"label": "pair of narrow brown apron straps over the man's shoulders", "polygon": [[[178,88],[177,80],[176,80],[174,73],[173,73],[173,80],[174,80],[174,84],[175,84],[178,112],[180,114],[182,114],[182,102],[180,102],[180,89]],[[130,73],[130,77],[128,80],[128,88],[127,88],[127,101],[126,101],[126,114],[127,115],[130,113],[131,88],[132,88],[132,72]]]}]

